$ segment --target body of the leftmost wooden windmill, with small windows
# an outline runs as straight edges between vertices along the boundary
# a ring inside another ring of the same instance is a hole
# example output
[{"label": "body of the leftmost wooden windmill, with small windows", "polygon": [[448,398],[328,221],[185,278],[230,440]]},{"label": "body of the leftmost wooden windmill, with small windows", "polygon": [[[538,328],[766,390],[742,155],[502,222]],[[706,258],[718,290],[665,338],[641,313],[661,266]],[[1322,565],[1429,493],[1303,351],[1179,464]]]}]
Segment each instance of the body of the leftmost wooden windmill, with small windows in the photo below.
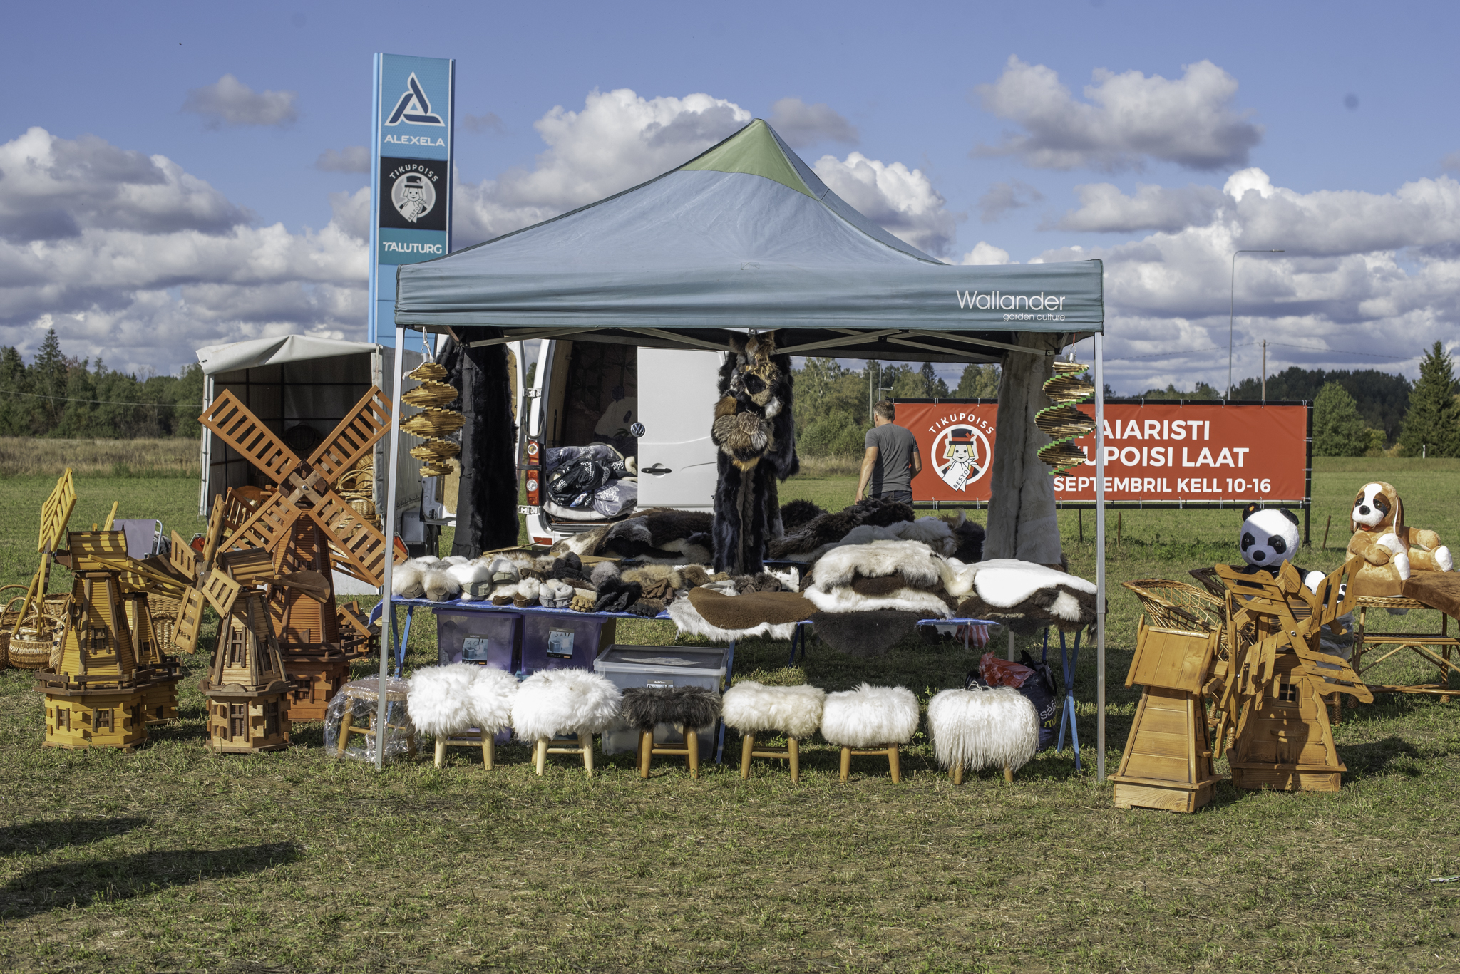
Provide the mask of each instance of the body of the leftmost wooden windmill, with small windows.
[{"label": "body of the leftmost wooden windmill, with small windows", "polygon": [[60,664],[38,673],[45,746],[121,748],[147,739],[152,669],[139,664],[123,599],[121,532],[72,532],[57,561],[73,572]]}]

